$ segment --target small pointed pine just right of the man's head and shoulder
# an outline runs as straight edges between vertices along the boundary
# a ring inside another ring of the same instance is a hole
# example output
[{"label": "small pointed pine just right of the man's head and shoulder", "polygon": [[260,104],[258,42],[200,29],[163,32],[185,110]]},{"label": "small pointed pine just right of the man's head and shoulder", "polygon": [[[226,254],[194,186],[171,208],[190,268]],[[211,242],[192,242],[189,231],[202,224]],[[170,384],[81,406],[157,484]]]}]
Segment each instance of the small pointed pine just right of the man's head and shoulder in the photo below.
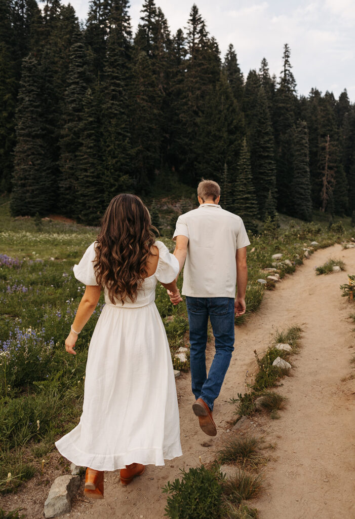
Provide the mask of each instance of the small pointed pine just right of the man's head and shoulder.
[{"label": "small pointed pine just right of the man's head and shoulder", "polygon": [[238,162],[238,174],[235,185],[236,213],[242,218],[245,228],[253,234],[258,231],[258,204],[252,182],[250,155],[244,139]]}]

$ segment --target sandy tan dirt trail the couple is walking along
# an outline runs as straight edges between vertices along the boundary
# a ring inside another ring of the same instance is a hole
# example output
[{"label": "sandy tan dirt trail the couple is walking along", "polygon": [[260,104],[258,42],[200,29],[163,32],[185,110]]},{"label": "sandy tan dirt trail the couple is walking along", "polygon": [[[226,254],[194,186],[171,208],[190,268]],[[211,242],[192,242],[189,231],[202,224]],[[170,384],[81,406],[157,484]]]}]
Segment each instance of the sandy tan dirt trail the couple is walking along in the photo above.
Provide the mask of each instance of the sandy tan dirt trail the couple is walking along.
[{"label": "sandy tan dirt trail the couple is walking along", "polygon": [[[346,271],[316,276],[315,266],[329,257],[342,259]],[[334,245],[315,252],[294,275],[277,283],[275,291],[266,292],[259,311],[236,327],[235,351],[215,402],[217,436],[209,438],[198,427],[191,409],[190,375],[182,373],[176,387],[183,456],[167,461],[165,467],[148,466],[127,487],[120,485],[118,472],[105,474],[105,499],[89,501],[79,490],[72,512],[66,516],[163,519],[166,495],[161,488],[168,480],[179,477],[182,468],[214,460],[217,450],[233,435],[252,433],[274,447],[263,468],[265,491],[250,502],[261,519],[355,519],[355,366],[350,363],[355,334],[349,320],[355,303],[341,297],[339,290],[347,282],[347,273],[354,272],[355,250]],[[292,376],[285,377],[277,389],[288,398],[285,409],[278,420],[259,413],[242,432],[233,431],[235,407],[230,399],[245,391],[247,371],[256,371],[253,351],[264,352],[275,330],[290,325],[302,326],[303,334],[301,350],[291,360]],[[211,342],[208,363],[213,354]],[[55,472],[51,481],[58,475]],[[3,508],[22,505],[28,519],[42,517],[50,482],[40,486],[34,480],[17,495],[5,496]]]}]

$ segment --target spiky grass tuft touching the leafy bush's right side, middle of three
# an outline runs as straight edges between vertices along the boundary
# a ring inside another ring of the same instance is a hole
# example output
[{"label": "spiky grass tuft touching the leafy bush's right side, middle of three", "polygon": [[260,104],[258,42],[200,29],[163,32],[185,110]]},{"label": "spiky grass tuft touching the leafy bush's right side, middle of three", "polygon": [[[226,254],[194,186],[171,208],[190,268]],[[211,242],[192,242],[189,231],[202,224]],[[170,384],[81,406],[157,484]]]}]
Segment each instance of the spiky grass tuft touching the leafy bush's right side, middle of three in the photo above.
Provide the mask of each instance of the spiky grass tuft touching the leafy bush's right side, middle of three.
[{"label": "spiky grass tuft touching the leafy bush's right side, middle of three", "polygon": [[263,476],[237,469],[233,475],[222,482],[222,489],[229,501],[239,504],[243,500],[252,499],[261,494],[264,489]]}]

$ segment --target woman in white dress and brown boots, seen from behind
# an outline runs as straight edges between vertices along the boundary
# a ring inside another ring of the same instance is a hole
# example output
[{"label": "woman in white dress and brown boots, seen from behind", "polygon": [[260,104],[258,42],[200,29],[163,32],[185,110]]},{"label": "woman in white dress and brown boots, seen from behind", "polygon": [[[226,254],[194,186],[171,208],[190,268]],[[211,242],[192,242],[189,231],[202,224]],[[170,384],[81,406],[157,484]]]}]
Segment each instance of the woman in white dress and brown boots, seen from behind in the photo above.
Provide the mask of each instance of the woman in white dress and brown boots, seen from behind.
[{"label": "woman in white dress and brown boots, seen from behind", "polygon": [[106,305],[89,346],[79,425],[55,443],[68,460],[88,467],[88,497],[104,497],[105,470],[121,469],[127,485],[146,465],[182,455],[171,354],[154,303],[157,281],[179,295],[178,272],[175,256],[155,241],[143,202],[128,194],[113,198],[97,240],[74,267],[87,286],[66,351],[75,354],[101,289]]}]

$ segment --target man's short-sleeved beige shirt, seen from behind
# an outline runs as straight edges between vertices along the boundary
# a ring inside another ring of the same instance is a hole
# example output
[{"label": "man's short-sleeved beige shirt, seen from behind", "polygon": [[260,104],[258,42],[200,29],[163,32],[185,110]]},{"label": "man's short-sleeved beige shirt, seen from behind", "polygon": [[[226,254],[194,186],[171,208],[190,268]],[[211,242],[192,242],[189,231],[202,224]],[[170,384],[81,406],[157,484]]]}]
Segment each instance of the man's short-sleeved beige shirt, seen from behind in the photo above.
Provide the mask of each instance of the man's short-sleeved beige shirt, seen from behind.
[{"label": "man's short-sleeved beige shirt, seen from behind", "polygon": [[235,297],[237,249],[250,245],[240,216],[214,203],[181,214],[176,236],[189,238],[182,294],[191,297]]}]

